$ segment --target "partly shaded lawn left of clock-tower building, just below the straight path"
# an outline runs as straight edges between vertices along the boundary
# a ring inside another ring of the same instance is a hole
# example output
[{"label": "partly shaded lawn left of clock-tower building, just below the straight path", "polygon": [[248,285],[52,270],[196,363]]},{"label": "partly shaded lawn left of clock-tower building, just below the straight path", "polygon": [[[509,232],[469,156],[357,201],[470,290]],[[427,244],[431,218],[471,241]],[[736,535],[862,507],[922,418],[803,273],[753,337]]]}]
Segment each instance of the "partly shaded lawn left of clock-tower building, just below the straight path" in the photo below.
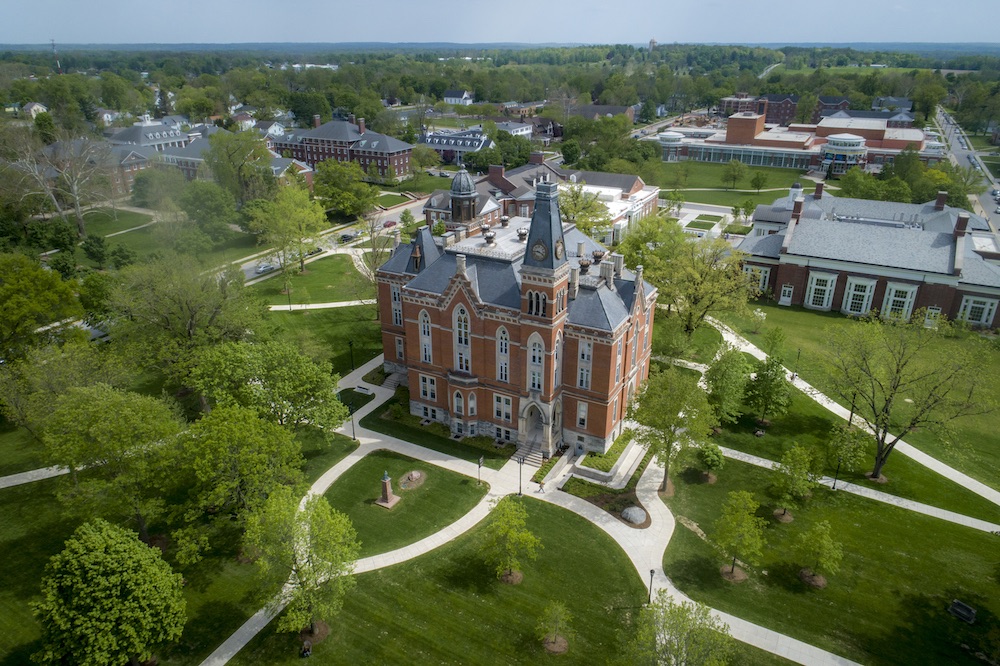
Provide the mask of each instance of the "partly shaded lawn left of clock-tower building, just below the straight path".
[{"label": "partly shaded lawn left of clock-tower building, just below the straight path", "polygon": [[[327,310],[270,312],[268,320],[279,338],[302,345],[310,355],[333,364],[341,376],[382,353],[382,337],[376,310],[371,305],[354,305]],[[348,345],[353,343],[353,347]]]}]

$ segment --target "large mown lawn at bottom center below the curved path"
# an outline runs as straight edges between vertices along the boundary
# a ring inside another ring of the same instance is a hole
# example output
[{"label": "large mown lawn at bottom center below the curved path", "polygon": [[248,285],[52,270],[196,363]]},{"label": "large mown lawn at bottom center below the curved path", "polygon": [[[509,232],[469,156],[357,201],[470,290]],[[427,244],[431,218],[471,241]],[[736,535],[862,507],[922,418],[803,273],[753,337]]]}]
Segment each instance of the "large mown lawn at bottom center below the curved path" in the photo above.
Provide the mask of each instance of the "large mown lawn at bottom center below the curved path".
[{"label": "large mown lawn at bottom center below the curved path", "polygon": [[[646,600],[643,580],[618,546],[583,518],[531,499],[528,527],[542,540],[524,582],[504,585],[478,554],[482,526],[416,560],[358,576],[313,649],[317,664],[604,664],[628,618]],[[576,637],[547,657],[534,628],[551,601],[566,604]],[[298,638],[273,623],[234,665],[298,664]],[[760,662],[768,663],[768,662]]]}]

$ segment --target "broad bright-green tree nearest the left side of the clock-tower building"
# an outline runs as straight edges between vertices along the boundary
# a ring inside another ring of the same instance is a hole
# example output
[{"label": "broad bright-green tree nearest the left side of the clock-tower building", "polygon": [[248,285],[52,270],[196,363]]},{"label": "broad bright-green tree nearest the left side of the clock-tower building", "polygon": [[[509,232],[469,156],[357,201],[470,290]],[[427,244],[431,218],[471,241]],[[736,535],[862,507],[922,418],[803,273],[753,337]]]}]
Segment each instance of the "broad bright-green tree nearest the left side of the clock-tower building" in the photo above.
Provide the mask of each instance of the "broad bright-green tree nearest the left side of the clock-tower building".
[{"label": "broad bright-green tree nearest the left side of the clock-tower building", "polygon": [[191,383],[211,403],[239,405],[278,425],[332,431],[348,416],[329,363],[286,342],[227,342],[197,354]]}]

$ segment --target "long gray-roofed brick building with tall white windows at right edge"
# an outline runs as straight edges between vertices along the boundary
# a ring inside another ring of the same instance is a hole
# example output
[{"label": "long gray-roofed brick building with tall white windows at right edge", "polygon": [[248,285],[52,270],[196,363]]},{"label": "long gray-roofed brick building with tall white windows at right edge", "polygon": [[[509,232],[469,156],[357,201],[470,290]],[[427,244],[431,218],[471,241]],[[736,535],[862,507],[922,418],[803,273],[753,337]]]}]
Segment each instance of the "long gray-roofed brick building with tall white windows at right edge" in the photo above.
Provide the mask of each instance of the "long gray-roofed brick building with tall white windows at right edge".
[{"label": "long gray-roofed brick building with tall white windows at right edge", "polygon": [[738,249],[744,270],[779,305],[879,312],[909,319],[915,312],[970,325],[1000,325],[1000,237],[987,219],[934,201],[906,204],[836,197],[818,183],[798,183],[773,204],[758,206]]}]

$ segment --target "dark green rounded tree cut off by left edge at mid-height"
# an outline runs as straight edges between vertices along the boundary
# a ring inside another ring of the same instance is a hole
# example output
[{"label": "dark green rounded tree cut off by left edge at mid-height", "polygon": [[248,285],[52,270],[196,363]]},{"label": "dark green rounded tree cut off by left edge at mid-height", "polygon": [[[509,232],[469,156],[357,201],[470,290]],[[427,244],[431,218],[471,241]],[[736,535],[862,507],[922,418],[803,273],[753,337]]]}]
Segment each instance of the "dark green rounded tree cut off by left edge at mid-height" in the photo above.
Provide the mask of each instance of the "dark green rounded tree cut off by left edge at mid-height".
[{"label": "dark green rounded tree cut off by left edge at mid-height", "polygon": [[59,275],[23,254],[0,254],[0,358],[23,356],[56,336],[48,324],[83,314],[73,290]]}]

